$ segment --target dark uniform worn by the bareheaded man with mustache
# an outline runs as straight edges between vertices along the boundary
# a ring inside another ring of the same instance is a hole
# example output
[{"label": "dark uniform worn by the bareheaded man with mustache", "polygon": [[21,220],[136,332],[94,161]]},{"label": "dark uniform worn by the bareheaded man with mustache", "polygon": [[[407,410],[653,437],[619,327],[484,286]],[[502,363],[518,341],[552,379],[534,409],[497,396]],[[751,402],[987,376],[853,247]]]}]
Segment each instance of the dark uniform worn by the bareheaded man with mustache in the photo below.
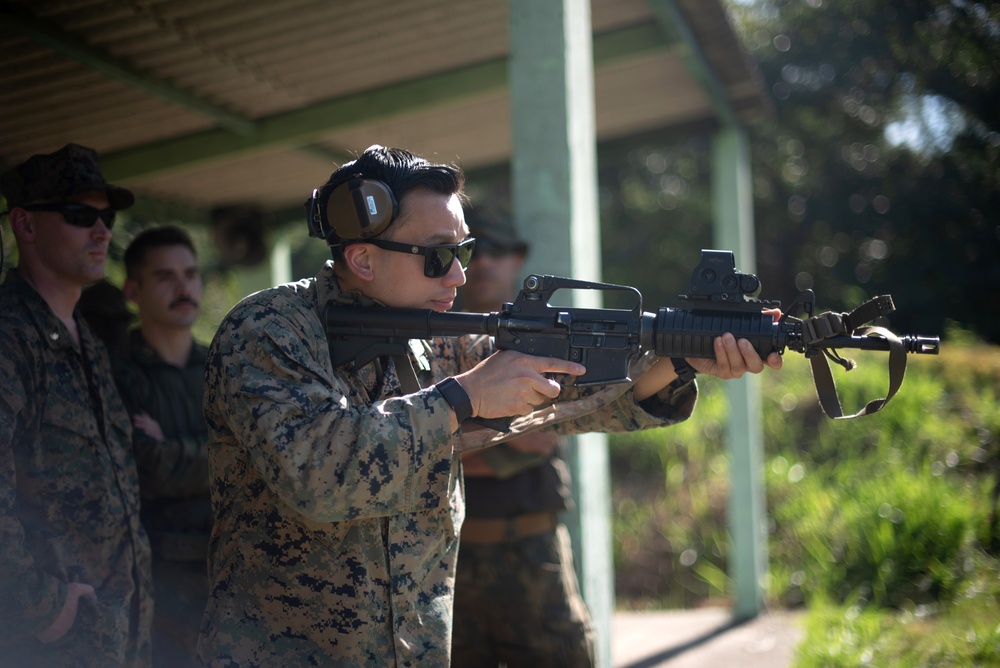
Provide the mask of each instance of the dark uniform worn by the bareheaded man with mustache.
[{"label": "dark uniform worn by the bareheaded man with mustache", "polygon": [[153,547],[155,666],[193,665],[201,615],[208,601],[208,536],[212,508],[208,491],[208,427],[202,413],[205,355],[195,343],[184,367],[163,360],[130,332],[115,380],[129,413],[156,420],[165,440],[135,430],[135,456],[142,491],[142,523]]}]

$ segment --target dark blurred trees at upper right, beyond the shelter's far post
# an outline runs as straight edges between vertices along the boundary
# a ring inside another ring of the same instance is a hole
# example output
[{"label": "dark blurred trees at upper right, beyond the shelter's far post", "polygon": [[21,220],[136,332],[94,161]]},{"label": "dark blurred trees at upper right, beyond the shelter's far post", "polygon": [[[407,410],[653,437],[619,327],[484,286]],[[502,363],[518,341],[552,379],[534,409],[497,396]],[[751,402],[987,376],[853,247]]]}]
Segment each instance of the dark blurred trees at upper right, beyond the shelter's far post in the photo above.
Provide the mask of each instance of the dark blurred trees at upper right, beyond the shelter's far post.
[{"label": "dark blurred trees at upper right, beyond the shelter's far post", "polygon": [[890,293],[898,330],[1000,341],[1000,5],[733,9],[777,107],[753,132],[765,288]]}]

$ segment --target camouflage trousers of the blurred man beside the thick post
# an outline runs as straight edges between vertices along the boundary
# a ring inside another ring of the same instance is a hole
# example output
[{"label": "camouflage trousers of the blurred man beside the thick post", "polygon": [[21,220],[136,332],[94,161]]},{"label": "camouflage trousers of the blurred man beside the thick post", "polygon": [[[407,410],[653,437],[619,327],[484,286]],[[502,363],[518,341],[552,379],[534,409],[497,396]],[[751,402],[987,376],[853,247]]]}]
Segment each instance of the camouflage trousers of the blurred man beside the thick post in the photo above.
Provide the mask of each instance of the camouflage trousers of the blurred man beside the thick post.
[{"label": "camouflage trousers of the blurred man beside the thick post", "polygon": [[594,632],[577,587],[569,532],[461,544],[454,668],[587,668]]}]

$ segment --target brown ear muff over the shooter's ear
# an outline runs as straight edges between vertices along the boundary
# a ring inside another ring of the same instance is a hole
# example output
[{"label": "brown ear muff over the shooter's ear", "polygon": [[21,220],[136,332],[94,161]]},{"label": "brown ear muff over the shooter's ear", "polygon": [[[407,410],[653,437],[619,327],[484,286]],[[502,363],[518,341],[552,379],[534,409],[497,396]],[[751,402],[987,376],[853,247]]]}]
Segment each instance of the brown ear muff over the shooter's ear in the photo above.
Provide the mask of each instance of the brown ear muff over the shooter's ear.
[{"label": "brown ear muff over the shooter's ear", "polygon": [[[327,196],[327,193],[329,195]],[[355,176],[329,191],[313,191],[309,230],[328,243],[378,236],[396,219],[399,205],[389,186]]]}]

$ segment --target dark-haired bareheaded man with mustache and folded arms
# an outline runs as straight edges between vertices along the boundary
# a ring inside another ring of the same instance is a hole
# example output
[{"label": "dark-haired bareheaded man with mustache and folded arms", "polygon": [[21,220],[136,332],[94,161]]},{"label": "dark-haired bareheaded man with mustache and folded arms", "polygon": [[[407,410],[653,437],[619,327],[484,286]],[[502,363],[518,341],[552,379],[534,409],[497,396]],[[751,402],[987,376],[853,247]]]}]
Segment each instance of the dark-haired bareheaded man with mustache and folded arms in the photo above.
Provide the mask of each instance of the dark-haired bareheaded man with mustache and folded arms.
[{"label": "dark-haired bareheaded man with mustache and folded arms", "polygon": [[142,522],[153,546],[153,665],[194,663],[208,598],[205,346],[191,328],[201,302],[194,243],[179,227],[139,234],[125,251],[125,297],[139,327],[115,372],[132,415]]}]

